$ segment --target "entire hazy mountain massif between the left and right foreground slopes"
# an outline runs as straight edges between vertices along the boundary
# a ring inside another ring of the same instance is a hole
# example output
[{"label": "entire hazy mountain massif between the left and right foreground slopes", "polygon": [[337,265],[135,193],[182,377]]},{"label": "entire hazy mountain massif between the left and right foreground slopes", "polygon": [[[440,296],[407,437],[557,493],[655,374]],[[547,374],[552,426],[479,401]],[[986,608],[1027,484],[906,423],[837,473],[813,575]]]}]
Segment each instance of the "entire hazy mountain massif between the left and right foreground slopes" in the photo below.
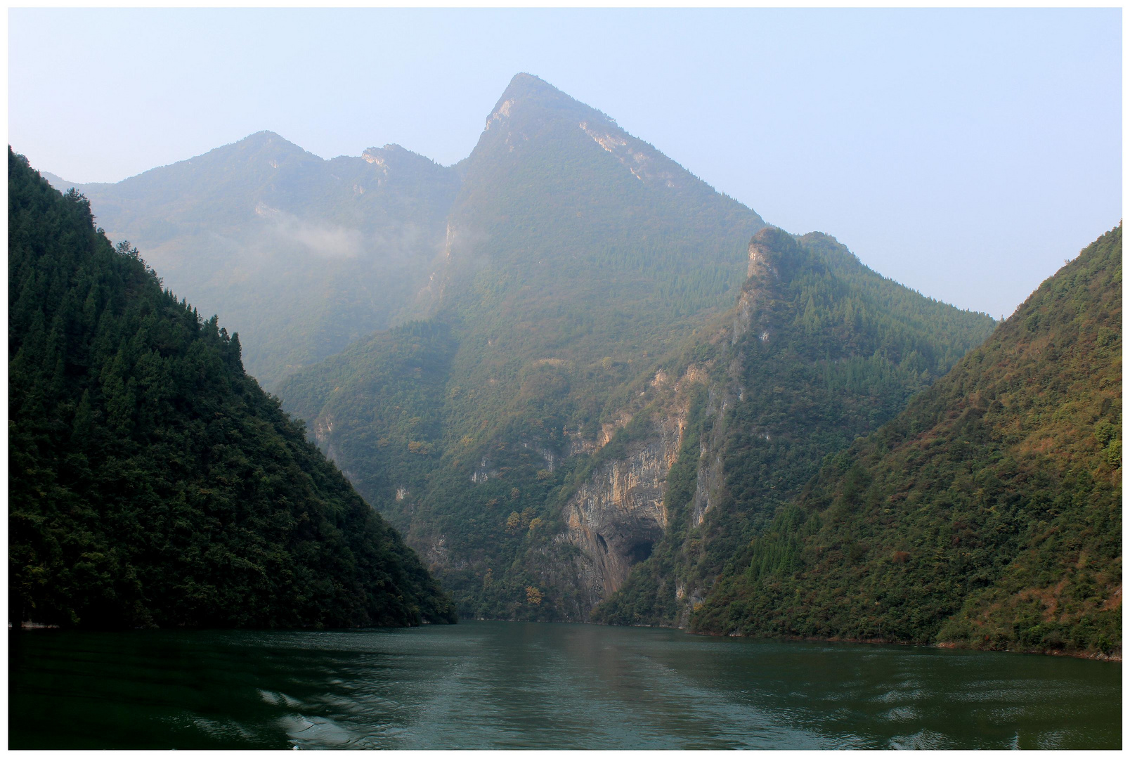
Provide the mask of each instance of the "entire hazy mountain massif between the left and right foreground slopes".
[{"label": "entire hazy mountain massif between the left and right foreground slopes", "polygon": [[[824,456],[993,326],[530,75],[450,168],[261,133],[84,190],[238,316],[252,369],[471,617],[688,623]],[[419,232],[334,258],[303,241],[356,238],[312,227]]]}]

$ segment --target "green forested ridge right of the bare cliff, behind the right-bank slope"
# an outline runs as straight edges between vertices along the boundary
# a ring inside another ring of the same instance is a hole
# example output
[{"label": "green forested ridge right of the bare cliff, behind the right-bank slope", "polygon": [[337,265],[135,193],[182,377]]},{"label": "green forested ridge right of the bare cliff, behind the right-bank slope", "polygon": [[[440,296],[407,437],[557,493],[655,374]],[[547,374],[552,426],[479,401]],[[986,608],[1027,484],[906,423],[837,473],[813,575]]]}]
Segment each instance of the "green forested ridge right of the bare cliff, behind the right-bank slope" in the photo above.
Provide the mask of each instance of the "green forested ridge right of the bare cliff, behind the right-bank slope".
[{"label": "green forested ridge right of the bare cliff, behind the right-bank slope", "polygon": [[[826,235],[766,228],[750,258],[736,314],[683,358],[710,368],[715,400],[713,412],[692,403],[693,444],[667,481],[670,526],[598,621],[685,623],[826,455],[894,417],[992,330],[982,314],[880,277]],[[721,481],[710,487],[712,465]]]}]

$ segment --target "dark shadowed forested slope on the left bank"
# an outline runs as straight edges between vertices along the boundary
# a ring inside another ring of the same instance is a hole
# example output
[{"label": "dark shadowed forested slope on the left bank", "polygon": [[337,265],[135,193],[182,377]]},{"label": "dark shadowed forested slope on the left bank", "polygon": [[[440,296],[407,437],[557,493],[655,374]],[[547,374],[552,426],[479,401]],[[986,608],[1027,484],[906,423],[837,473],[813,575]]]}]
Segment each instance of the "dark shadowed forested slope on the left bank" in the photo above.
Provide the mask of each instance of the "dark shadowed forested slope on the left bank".
[{"label": "dark shadowed forested slope on the left bank", "polygon": [[244,373],[235,334],[10,149],[8,203],[10,620],[454,621],[418,557]]}]

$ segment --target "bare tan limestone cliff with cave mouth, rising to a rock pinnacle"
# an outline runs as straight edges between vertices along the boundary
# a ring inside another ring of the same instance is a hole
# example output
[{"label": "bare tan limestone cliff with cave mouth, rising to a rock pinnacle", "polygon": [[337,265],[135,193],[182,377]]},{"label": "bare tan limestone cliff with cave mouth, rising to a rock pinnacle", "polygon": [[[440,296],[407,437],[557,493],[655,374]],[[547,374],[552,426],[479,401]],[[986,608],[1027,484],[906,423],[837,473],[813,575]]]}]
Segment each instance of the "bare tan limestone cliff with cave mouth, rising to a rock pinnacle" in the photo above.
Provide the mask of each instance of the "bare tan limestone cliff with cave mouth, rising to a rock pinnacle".
[{"label": "bare tan limestone cliff with cave mouth, rising to a rock pinnacle", "polygon": [[[776,235],[784,235],[775,230]],[[780,279],[780,252],[773,247],[776,235],[758,235],[749,245],[749,280],[742,289],[732,317],[719,320],[732,326],[712,328],[707,342],[724,352],[727,341],[732,346],[746,334],[755,319],[758,304]],[[760,329],[759,335],[767,335]],[[767,337],[758,337],[765,341]],[[624,455],[605,461],[590,473],[562,508],[563,530],[555,538],[557,546],[575,549],[568,556],[568,568],[556,566],[540,575],[547,584],[565,584],[574,588],[573,603],[565,610],[572,619],[588,619],[592,609],[611,597],[627,582],[632,568],[646,561],[654,546],[669,536],[671,509],[684,504],[667,503],[668,474],[679,459],[687,433],[690,393],[693,389],[705,392],[703,419],[709,433],[699,440],[695,452],[695,489],[689,504],[692,529],[699,529],[724,489],[722,450],[727,439],[728,411],[745,396],[738,382],[744,354],[734,351],[724,364],[724,370],[714,372],[719,359],[706,365],[688,364],[678,380],[670,381],[669,372],[660,368],[641,391],[650,402],[636,415],[645,417],[644,427],[650,434],[632,442]],[[712,374],[716,376],[712,376]],[[598,444],[608,444],[618,429],[632,420],[632,410],[621,410],[617,424],[606,424]],[[547,555],[548,558],[548,555]],[[555,564],[553,559],[548,561]],[[560,561],[558,560],[557,564]],[[695,603],[702,601],[706,585],[698,577],[671,577],[679,613],[675,620],[685,625]]]}]

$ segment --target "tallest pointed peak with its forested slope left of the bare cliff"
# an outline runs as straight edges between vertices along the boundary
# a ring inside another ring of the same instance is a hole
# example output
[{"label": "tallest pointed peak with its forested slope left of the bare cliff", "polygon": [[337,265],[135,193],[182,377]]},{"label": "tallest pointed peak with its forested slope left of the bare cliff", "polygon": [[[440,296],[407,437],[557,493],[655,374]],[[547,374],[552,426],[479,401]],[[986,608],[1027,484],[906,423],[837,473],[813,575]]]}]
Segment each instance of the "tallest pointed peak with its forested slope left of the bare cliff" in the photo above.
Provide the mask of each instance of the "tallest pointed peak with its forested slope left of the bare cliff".
[{"label": "tallest pointed peak with its forested slope left of the bare cliff", "polygon": [[[625,383],[732,306],[764,223],[528,75],[460,171],[429,326],[360,341],[279,394],[431,561],[481,574],[512,561],[495,541],[515,507],[537,518],[558,464],[615,427]],[[401,391],[415,382],[435,391]]]}]

